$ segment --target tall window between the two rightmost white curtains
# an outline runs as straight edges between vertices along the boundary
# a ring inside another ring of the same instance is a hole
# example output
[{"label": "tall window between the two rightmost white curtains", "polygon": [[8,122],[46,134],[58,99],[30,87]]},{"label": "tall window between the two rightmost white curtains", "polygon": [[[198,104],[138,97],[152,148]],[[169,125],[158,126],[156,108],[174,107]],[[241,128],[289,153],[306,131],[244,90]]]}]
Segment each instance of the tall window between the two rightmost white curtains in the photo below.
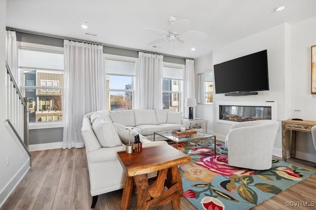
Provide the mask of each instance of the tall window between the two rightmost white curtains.
[{"label": "tall window between the two rightmost white curtains", "polygon": [[166,64],[163,66],[162,108],[181,110],[183,65]]}]

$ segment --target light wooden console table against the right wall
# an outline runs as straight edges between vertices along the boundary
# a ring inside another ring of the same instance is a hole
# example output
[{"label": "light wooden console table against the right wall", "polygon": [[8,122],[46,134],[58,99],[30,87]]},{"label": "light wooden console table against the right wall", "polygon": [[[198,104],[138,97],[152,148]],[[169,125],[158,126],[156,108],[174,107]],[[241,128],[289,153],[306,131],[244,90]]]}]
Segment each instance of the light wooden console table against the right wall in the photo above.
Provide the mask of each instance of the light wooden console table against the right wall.
[{"label": "light wooden console table against the right wall", "polygon": [[307,120],[282,120],[282,158],[286,161],[286,131],[290,131],[290,145],[291,157],[295,157],[296,150],[296,131],[311,133],[313,126],[316,126],[315,121]]}]

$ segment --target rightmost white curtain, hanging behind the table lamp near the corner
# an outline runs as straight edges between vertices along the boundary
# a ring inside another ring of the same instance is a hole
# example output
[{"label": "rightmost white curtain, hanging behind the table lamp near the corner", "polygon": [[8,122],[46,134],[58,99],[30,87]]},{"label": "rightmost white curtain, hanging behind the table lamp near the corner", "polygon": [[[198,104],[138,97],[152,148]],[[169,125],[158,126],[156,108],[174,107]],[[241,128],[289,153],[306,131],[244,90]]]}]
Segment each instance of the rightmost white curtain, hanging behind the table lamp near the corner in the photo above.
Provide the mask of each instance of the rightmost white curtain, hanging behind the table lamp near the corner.
[{"label": "rightmost white curtain, hanging behind the table lamp near the corner", "polygon": [[[195,91],[195,75],[194,75],[194,60],[186,59],[186,70],[185,70],[185,91],[184,100],[186,99],[196,99]],[[183,105],[185,105],[183,103]],[[194,107],[194,110],[196,107]],[[189,107],[183,107],[184,116],[189,116]],[[194,111],[195,116],[195,111]]]}]

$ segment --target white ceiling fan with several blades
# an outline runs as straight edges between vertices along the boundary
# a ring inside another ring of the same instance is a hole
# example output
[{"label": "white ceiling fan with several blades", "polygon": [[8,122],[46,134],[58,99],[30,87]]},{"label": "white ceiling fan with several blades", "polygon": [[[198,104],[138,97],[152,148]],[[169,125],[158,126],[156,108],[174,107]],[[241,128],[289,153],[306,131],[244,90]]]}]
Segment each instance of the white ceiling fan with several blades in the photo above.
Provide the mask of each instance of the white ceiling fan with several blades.
[{"label": "white ceiling fan with several blades", "polygon": [[155,46],[160,43],[171,43],[172,48],[174,49],[175,47],[181,47],[186,41],[200,41],[208,36],[202,32],[189,31],[190,21],[188,20],[176,21],[176,18],[171,16],[169,22],[171,25],[166,32],[158,29],[141,28],[149,33],[162,36],[161,38],[149,42],[148,45]]}]

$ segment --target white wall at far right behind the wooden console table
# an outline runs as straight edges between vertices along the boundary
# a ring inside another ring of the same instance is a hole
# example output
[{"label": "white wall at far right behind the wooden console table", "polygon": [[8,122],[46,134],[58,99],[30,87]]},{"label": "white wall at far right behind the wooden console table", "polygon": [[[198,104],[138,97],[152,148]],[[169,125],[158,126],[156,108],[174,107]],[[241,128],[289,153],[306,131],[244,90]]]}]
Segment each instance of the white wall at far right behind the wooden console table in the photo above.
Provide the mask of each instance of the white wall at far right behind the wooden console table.
[{"label": "white wall at far right behind the wooden console table", "polygon": [[[316,17],[291,26],[290,118],[316,121],[316,95],[311,94],[311,46],[316,45]],[[300,111],[294,111],[300,110]],[[316,151],[312,135],[298,132],[297,157],[313,159]],[[314,156],[312,156],[314,155]]]}]

